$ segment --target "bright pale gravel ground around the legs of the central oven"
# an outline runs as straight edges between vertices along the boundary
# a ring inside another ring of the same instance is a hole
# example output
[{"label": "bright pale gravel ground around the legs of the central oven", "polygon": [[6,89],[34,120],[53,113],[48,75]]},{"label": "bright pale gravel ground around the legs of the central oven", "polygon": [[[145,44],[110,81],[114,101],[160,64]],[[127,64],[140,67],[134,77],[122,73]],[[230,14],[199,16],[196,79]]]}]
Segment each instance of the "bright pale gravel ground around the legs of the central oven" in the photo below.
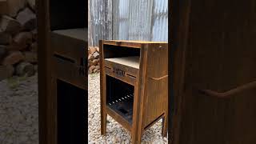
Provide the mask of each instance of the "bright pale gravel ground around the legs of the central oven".
[{"label": "bright pale gravel ground around the legs of the central oven", "polygon": [[[130,143],[130,132],[113,118],[107,116],[106,136],[100,134],[100,80],[99,74],[89,75],[89,143]],[[168,143],[162,138],[162,121],[160,120],[142,136],[142,143]]]}]

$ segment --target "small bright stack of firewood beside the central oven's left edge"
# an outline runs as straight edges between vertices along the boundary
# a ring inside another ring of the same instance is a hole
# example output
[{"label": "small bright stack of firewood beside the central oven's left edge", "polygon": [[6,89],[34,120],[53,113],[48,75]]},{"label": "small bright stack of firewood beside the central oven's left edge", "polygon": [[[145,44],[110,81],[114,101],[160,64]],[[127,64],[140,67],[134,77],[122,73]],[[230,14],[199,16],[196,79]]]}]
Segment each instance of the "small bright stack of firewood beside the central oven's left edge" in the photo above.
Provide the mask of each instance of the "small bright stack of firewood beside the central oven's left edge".
[{"label": "small bright stack of firewood beside the central oven's left edge", "polygon": [[98,47],[89,47],[88,49],[88,73],[99,73],[99,49]]}]

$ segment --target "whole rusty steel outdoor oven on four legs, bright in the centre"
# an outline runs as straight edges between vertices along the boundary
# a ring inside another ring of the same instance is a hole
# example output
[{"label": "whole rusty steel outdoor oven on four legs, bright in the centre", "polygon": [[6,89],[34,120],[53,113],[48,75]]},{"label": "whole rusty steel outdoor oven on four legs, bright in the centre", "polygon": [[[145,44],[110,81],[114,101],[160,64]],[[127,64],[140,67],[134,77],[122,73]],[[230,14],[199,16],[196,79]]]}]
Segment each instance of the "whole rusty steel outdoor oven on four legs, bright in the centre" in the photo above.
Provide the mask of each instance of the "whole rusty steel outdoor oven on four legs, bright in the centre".
[{"label": "whole rusty steel outdoor oven on four legs, bright in the centre", "polygon": [[133,143],[162,121],[167,134],[168,46],[166,42],[100,41],[101,133],[106,116],[130,130]]}]

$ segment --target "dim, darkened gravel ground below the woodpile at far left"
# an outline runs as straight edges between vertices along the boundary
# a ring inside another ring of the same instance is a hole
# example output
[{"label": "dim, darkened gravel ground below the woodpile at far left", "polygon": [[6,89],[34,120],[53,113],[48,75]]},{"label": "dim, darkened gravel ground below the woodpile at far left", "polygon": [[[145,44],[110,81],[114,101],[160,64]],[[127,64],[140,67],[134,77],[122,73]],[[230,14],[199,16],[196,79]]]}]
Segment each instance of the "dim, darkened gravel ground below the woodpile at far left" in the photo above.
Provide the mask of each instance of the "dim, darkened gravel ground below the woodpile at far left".
[{"label": "dim, darkened gravel ground below the woodpile at far left", "polygon": [[37,143],[37,74],[0,81],[0,144]]}]

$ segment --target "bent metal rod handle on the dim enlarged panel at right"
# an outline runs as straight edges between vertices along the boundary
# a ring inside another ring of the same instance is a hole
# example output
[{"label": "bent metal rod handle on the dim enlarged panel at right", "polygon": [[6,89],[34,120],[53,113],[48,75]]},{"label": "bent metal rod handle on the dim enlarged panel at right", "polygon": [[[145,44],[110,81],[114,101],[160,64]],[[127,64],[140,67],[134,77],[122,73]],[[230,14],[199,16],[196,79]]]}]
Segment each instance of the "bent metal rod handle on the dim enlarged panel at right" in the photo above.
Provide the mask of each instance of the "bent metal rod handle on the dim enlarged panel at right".
[{"label": "bent metal rod handle on the dim enlarged panel at right", "polygon": [[212,97],[218,97],[218,98],[230,98],[230,96],[232,96],[234,94],[238,94],[238,93],[241,93],[242,91],[250,90],[253,88],[256,89],[256,81],[246,83],[245,85],[238,86],[232,90],[227,90],[225,92],[217,92],[214,90],[202,90],[202,89],[200,90],[199,89],[199,93],[205,94],[208,96],[212,96]]}]

